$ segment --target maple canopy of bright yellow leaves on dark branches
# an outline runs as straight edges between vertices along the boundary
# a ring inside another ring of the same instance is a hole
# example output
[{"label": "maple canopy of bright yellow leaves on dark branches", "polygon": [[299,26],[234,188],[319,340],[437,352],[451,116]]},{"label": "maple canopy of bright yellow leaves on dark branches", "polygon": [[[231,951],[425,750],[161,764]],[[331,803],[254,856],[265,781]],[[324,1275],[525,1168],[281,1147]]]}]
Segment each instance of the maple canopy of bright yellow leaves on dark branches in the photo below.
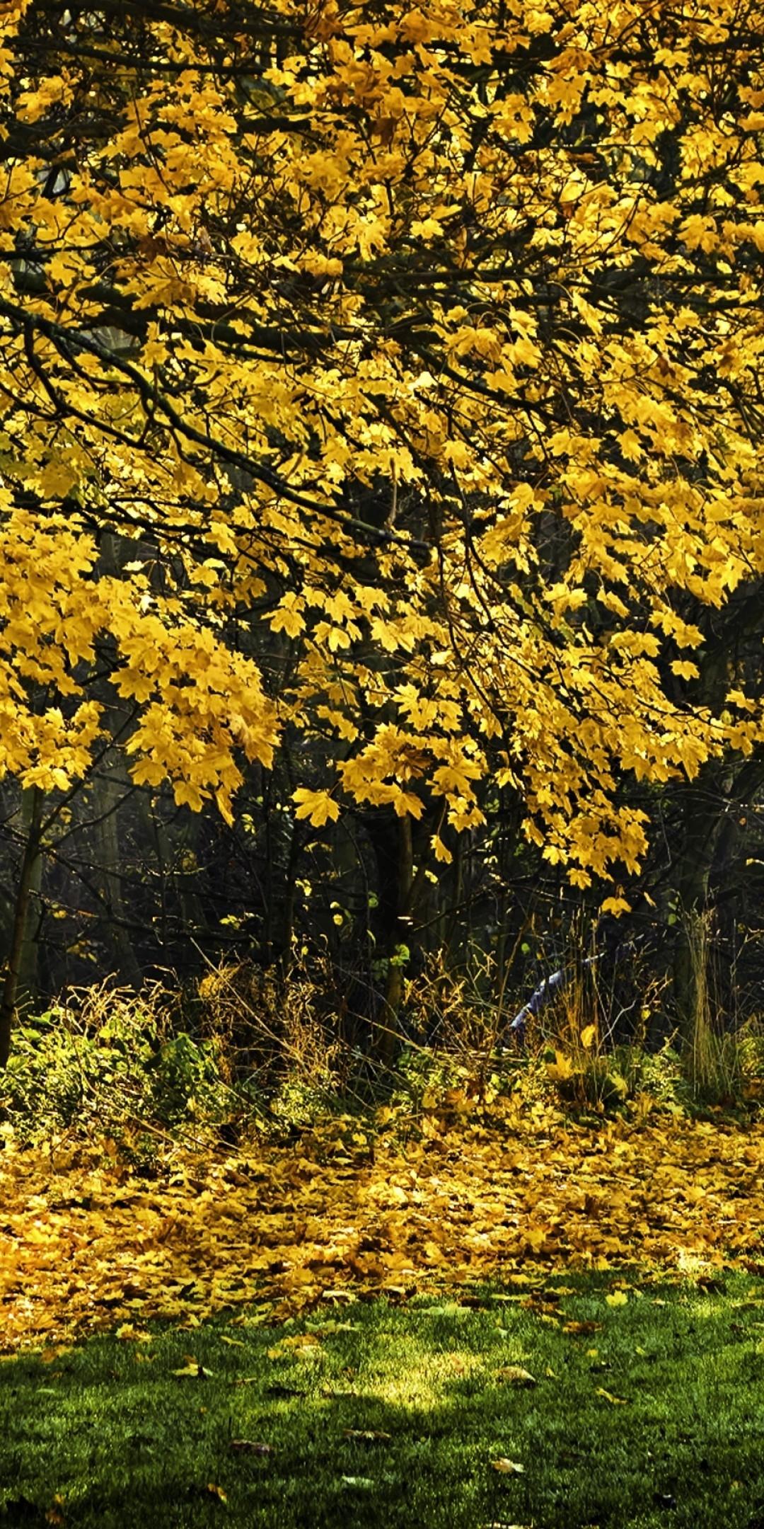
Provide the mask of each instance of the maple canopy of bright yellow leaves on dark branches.
[{"label": "maple canopy of bright yellow leaves on dark branches", "polygon": [[299,820],[400,818],[402,917],[489,778],[575,887],[637,868],[619,781],[762,737],[703,668],[764,572],[761,6],[0,26],[2,771],[69,792],[118,703],[231,818],[287,729]]}]

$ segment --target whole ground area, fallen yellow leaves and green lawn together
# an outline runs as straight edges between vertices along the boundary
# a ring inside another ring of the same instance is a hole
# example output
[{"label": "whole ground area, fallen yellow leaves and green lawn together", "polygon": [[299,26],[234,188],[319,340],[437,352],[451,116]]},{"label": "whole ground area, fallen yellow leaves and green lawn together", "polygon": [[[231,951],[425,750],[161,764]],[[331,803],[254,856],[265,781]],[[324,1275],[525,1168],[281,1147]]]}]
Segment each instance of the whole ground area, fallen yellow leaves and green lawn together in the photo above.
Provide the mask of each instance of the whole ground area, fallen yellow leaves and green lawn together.
[{"label": "whole ground area, fallen yellow leaves and green lawn together", "polygon": [[0,1524],[762,1529],[764,1128],[388,1113],[5,1133]]}]

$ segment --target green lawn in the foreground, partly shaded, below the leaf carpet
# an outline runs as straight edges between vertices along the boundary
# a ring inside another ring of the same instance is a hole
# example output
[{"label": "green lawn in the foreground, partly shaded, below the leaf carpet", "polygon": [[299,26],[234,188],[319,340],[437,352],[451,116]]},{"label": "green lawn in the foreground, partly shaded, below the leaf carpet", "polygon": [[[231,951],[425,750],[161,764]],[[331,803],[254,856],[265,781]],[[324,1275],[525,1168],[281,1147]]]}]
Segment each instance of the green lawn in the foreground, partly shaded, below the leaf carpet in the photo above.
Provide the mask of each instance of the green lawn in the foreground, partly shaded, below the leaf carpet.
[{"label": "green lawn in the foreground, partly shaded, below the leaf carpet", "polygon": [[[549,1298],[561,1286],[575,1294]],[[764,1526],[761,1283],[643,1284],[622,1306],[611,1290],[611,1275],[561,1275],[536,1310],[509,1287],[5,1359],[0,1524]],[[559,1310],[602,1327],[565,1333],[544,1315]],[[312,1352],[269,1355],[301,1333]],[[186,1355],[211,1375],[174,1376]],[[501,1378],[507,1365],[536,1385]],[[500,1457],[523,1474],[500,1474]]]}]

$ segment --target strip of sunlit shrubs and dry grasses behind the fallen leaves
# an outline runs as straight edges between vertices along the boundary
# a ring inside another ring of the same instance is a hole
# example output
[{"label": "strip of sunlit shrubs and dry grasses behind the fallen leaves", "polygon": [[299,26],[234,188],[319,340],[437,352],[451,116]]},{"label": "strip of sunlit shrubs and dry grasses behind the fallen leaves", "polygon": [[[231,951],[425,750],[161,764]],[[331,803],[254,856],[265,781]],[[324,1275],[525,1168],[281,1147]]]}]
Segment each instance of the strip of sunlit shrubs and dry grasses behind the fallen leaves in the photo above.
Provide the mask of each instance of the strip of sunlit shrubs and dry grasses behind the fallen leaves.
[{"label": "strip of sunlit shrubs and dry grasses behind the fallen leaves", "polygon": [[[417,1130],[432,1113],[490,1115],[495,1099],[558,1102],[578,1116],[758,1112],[764,1037],[704,1011],[683,1049],[656,1049],[646,1023],[614,1043],[591,992],[571,983],[518,1043],[465,977],[410,982],[393,1070],[359,1050],[316,974],[284,979],[244,965],[209,969],[193,1003],[148,986],[96,986],[17,1026],[0,1078],[0,1121],[34,1141],[108,1138],[134,1165],[173,1139],[237,1144],[312,1127],[332,1113],[373,1113]],[[651,1009],[642,1009],[646,1021]],[[504,1017],[506,1018],[506,1017]],[[700,1058],[700,1060],[698,1060]]]}]

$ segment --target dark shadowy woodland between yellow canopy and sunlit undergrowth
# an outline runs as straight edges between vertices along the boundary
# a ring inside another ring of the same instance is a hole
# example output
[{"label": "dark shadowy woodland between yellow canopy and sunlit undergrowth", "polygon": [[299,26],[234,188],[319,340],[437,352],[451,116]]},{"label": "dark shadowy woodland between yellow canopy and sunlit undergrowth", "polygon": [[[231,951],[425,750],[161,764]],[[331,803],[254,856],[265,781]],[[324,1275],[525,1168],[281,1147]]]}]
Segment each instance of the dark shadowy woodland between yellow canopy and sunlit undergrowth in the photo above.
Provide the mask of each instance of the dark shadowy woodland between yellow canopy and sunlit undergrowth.
[{"label": "dark shadowy woodland between yellow canopy and sunlit undergrowth", "polygon": [[[759,590],[749,599],[758,607]],[[743,602],[720,622],[723,650],[736,621],[746,621]],[[761,642],[758,625],[750,641],[752,648]],[[277,671],[278,653],[260,659]],[[402,823],[393,809],[351,807],[321,833],[295,821],[295,749],[303,754],[299,780],[321,784],[321,740],[310,748],[307,769],[304,740],[284,740],[272,771],[244,768],[232,826],[214,806],[193,813],[177,807],[170,790],[131,784],[124,760],[107,751],[35,859],[20,976],[24,1008],[105,979],[136,991],[144,979],[159,980],[191,1000],[194,985],[220,963],[246,963],[255,1000],[258,974],[281,982],[293,966],[307,966],[325,1012],[342,1017],[345,1038],[373,1049],[391,959],[400,960],[405,979],[419,979],[437,957],[442,977],[469,977],[486,1009],[501,1009],[506,1029],[544,977],[599,954],[599,997],[617,1038],[659,1044],[681,1023],[683,910],[698,905],[720,1018],[740,1026],[758,1017],[758,758],[709,766],[689,783],[631,792],[622,786],[630,801],[649,807],[656,832],[645,868],[628,887],[633,913],[616,922],[599,914],[597,891],[571,888],[564,868],[550,867],[527,842],[516,803],[490,780],[480,792],[484,826],[454,838],[454,862],[437,865],[437,876],[420,876],[411,894],[428,826]],[[29,801],[6,784],[6,951],[28,818]],[[432,998],[429,1023],[437,1026]],[[425,1038],[420,1005],[408,1015],[402,1005],[403,1027]]]}]

